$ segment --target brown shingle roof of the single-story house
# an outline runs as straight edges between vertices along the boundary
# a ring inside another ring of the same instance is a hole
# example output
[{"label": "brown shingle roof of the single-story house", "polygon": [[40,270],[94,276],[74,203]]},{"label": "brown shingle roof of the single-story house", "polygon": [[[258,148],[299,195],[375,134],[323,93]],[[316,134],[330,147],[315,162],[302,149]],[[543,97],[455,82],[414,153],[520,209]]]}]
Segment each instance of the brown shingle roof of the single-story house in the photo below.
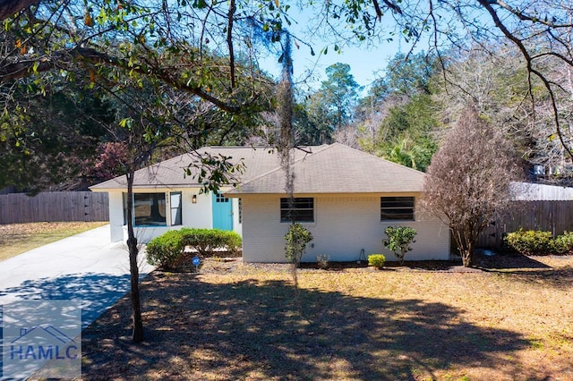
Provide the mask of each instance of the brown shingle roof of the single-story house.
[{"label": "brown shingle roof of the single-story house", "polygon": [[[231,163],[244,164],[244,172],[235,174],[235,181],[241,184],[229,190],[230,195],[285,193],[285,174],[272,148],[207,147],[199,149],[197,154],[231,157]],[[423,188],[423,173],[342,144],[297,148],[294,154],[291,168],[295,175],[295,193],[419,192]],[[150,165],[135,173],[133,187],[201,187],[196,176],[184,175],[184,168],[197,161],[196,154],[184,154]],[[197,170],[192,172],[196,174]],[[91,189],[125,187],[125,176],[119,176]]]}]

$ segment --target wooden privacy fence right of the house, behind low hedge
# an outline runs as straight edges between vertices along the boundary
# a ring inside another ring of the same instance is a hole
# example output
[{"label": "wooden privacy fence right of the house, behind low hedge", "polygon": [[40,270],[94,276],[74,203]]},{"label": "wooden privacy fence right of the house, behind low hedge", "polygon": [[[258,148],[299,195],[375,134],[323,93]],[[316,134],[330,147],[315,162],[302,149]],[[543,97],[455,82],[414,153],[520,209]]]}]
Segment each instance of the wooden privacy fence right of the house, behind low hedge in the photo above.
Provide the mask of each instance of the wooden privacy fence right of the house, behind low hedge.
[{"label": "wooden privacy fence right of the house, behind low hedge", "polygon": [[499,249],[505,233],[523,227],[557,236],[573,231],[573,201],[513,201],[506,216],[490,223],[480,235],[476,247]]}]

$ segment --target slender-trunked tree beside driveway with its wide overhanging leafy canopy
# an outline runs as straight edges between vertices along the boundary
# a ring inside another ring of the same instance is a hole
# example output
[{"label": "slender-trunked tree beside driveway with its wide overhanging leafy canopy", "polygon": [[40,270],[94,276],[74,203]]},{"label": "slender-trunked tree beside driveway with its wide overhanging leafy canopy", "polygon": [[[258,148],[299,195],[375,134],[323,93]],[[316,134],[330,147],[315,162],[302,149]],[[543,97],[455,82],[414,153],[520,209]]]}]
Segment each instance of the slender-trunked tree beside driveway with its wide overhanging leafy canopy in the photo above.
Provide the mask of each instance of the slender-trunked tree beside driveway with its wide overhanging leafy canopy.
[{"label": "slender-trunked tree beside driveway with its wide overhanging leafy canopy", "polygon": [[[15,83],[21,80],[30,80],[33,96],[47,93],[56,78],[70,82],[81,78],[90,89],[100,87],[116,103],[115,119],[107,124],[110,130],[118,123],[121,127],[113,141],[125,143],[129,151],[124,174],[131,203],[133,173],[152,160],[156,148],[170,140],[202,143],[206,134],[213,133],[213,125],[219,128],[220,140],[240,139],[243,134],[235,131],[243,130],[244,122],[268,105],[264,95],[269,88],[259,86],[269,81],[253,64],[253,44],[234,45],[238,36],[250,38],[250,32],[237,28],[234,21],[244,21],[243,26],[251,22],[243,14],[249,12],[247,5],[235,3],[213,3],[206,9],[202,1],[1,1],[0,19],[5,20],[0,30],[0,114],[12,116],[7,105],[12,105]],[[252,22],[266,24],[264,12],[257,13],[261,17]],[[176,104],[177,109],[169,96],[174,91],[187,96],[187,103]],[[182,115],[189,116],[201,102],[210,105],[200,107],[210,117],[187,123],[190,119]],[[13,110],[22,108],[14,105]],[[232,114],[222,127],[211,123],[211,116],[218,113]],[[15,123],[0,122],[4,141]],[[184,128],[189,125],[199,129]],[[201,163],[212,166],[204,176],[206,188],[216,189],[225,182],[226,160],[201,157]],[[127,210],[132,211],[131,204]],[[140,342],[138,248],[131,216],[127,220],[133,341]]]}]

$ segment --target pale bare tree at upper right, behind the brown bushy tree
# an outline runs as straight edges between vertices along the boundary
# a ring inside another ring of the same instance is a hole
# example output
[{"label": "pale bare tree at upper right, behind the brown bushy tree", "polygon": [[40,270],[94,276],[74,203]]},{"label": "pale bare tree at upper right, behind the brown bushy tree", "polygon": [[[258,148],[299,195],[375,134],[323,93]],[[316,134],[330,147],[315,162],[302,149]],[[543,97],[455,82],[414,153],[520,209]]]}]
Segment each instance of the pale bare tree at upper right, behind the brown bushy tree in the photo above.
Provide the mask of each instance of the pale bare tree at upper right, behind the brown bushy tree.
[{"label": "pale bare tree at upper right, behind the brown bushy tree", "polygon": [[[448,58],[447,81],[441,82],[443,86],[436,97],[443,121],[457,120],[469,101],[490,123],[504,131],[516,145],[519,155],[530,163],[531,169],[534,165],[543,165],[548,174],[560,171],[559,176],[546,176],[545,181],[568,182],[563,166],[569,162],[569,157],[555,135],[550,97],[540,80],[532,80],[535,105],[529,101],[525,62],[517,49],[491,44],[476,46],[469,52],[452,54]],[[560,84],[559,91],[554,92],[556,104],[563,112],[570,110],[573,91],[569,68],[552,61],[544,64],[545,72],[552,73],[555,83]],[[572,138],[569,119],[562,114],[561,131],[566,131],[563,140],[568,145]]]}]

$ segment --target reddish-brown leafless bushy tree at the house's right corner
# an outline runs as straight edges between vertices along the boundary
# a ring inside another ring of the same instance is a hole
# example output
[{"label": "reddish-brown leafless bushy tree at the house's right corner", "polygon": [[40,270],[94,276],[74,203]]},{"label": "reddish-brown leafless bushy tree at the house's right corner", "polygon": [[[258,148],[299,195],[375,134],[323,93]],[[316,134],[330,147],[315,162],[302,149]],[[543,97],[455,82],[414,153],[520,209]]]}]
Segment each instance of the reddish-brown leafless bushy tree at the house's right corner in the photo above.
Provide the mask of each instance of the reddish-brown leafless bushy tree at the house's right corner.
[{"label": "reddish-brown leafless bushy tree at the house's right corner", "polygon": [[479,233],[508,207],[518,174],[508,140],[467,107],[432,157],[423,195],[423,205],[449,224],[464,266],[473,265]]}]

